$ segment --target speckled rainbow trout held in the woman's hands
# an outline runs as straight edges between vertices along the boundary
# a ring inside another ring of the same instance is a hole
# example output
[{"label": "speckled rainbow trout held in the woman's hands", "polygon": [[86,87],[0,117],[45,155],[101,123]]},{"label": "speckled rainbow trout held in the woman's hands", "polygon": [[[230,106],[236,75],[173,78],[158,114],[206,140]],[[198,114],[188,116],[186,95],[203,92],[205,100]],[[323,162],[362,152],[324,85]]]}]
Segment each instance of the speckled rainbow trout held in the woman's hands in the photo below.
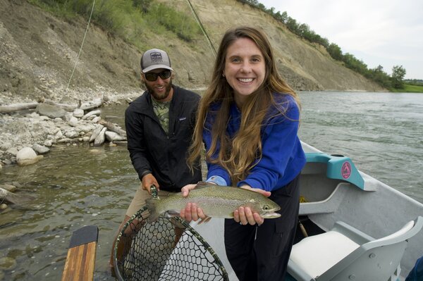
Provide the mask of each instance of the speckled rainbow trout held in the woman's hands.
[{"label": "speckled rainbow trout held in the woman's hands", "polygon": [[263,194],[239,187],[222,187],[219,185],[197,185],[190,190],[187,197],[180,192],[171,194],[163,199],[145,200],[149,209],[149,221],[157,220],[160,214],[176,216],[187,203],[195,203],[206,216],[212,218],[233,218],[233,211],[240,206],[250,207],[262,218],[278,218],[281,215],[275,213],[280,210],[274,201]]}]

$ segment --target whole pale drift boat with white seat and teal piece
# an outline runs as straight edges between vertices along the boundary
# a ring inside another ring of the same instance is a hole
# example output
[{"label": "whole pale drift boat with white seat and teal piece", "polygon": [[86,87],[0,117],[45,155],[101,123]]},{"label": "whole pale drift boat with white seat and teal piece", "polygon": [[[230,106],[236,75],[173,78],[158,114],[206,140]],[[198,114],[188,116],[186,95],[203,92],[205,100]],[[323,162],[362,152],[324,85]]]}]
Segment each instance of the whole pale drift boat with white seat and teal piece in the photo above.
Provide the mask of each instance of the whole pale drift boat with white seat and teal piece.
[{"label": "whole pale drift boat with white seat and teal piece", "polygon": [[[423,204],[355,168],[350,158],[302,143],[300,225],[287,280],[405,280],[423,256]],[[223,220],[193,225],[238,280]],[[308,236],[305,238],[305,236]]]}]

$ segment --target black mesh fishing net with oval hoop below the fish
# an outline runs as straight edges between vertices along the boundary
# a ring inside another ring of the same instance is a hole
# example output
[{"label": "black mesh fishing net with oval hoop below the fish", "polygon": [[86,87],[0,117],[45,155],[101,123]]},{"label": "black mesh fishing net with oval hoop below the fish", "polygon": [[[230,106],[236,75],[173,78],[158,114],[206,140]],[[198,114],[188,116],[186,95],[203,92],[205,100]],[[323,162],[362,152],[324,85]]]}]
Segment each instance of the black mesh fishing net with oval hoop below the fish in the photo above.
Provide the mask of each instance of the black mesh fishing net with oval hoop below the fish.
[{"label": "black mesh fishing net with oval hoop below the fish", "polygon": [[148,216],[141,208],[116,239],[118,280],[228,280],[219,257],[185,220],[159,216],[149,222]]}]

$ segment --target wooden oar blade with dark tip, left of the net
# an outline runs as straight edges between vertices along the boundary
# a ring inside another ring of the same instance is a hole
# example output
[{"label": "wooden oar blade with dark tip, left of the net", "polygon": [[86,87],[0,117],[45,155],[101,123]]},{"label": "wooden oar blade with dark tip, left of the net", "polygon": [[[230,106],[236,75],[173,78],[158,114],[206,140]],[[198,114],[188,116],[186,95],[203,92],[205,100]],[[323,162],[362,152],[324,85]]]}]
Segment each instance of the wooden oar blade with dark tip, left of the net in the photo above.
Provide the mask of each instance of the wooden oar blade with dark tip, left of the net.
[{"label": "wooden oar blade with dark tip, left of the net", "polygon": [[73,232],[62,281],[92,281],[99,229],[87,225]]}]

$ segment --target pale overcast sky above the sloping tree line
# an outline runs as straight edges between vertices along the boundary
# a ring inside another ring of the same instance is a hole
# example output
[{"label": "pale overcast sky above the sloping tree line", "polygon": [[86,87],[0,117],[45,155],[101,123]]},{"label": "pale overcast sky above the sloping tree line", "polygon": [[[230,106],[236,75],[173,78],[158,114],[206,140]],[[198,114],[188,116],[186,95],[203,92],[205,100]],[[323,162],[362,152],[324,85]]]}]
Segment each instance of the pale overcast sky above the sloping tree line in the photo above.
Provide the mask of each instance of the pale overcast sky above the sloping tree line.
[{"label": "pale overcast sky above the sloping tree line", "polygon": [[343,54],[378,65],[391,75],[403,65],[405,78],[423,79],[422,0],[259,0],[275,13],[286,11],[298,23],[309,25]]}]

